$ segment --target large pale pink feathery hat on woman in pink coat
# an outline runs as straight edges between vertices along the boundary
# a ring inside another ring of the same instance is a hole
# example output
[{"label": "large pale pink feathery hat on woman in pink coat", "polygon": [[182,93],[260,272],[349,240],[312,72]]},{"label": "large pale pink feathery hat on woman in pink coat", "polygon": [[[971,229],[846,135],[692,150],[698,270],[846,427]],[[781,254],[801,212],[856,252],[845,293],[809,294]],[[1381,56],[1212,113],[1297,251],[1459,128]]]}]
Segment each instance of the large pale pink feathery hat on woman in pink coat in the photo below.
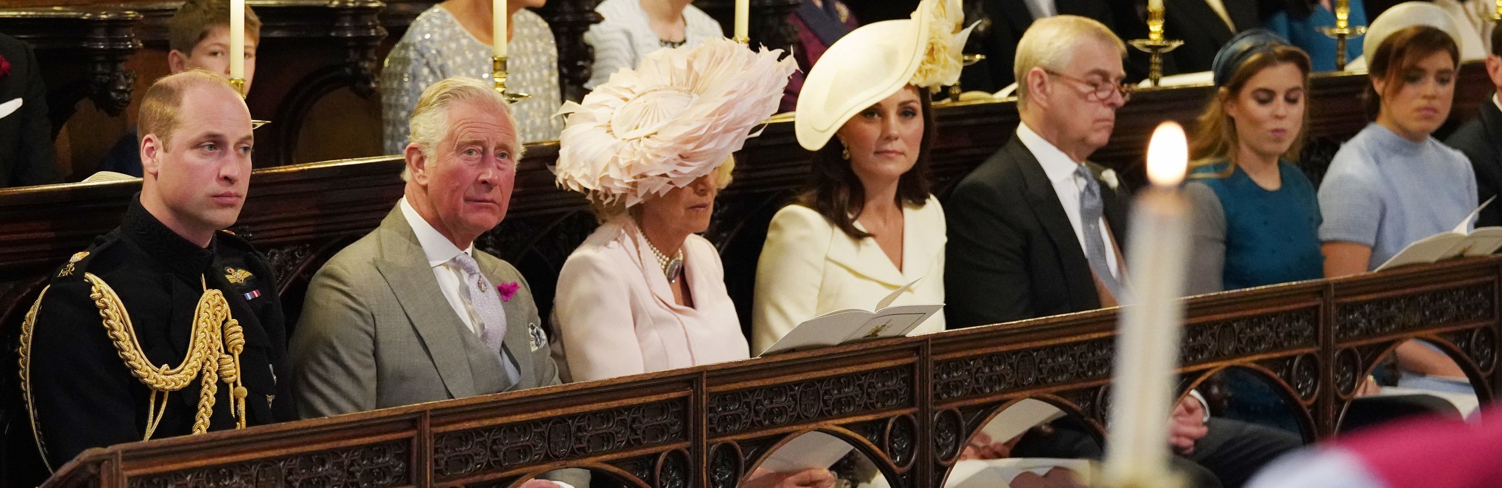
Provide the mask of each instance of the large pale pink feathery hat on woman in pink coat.
[{"label": "large pale pink feathery hat on woman in pink coat", "polygon": [[712,39],[614,72],[583,104],[559,110],[568,114],[553,167],[559,185],[629,207],[715,171],[777,113],[798,68],[781,54]]}]

